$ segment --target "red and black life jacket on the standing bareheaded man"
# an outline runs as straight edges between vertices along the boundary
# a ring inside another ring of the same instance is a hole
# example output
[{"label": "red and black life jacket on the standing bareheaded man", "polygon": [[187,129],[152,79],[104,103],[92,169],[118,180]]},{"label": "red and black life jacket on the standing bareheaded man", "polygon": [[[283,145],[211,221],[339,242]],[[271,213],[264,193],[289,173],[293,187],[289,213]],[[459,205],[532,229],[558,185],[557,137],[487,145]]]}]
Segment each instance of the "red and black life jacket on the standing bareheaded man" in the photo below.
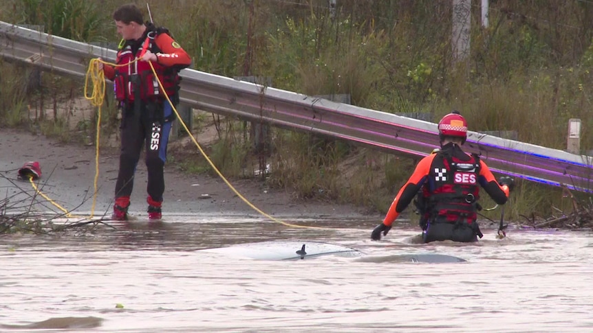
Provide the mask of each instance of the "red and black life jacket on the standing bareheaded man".
[{"label": "red and black life jacket on the standing bareheaded man", "polygon": [[158,62],[152,62],[155,72],[158,75],[162,88],[155,78],[149,62],[134,61],[140,58],[144,52],[150,50],[153,54],[161,50],[155,43],[155,38],[159,34],[169,34],[169,30],[163,27],[154,27],[147,25],[147,37],[142,43],[142,47],[134,53],[133,47],[129,41],[120,46],[118,51],[118,65],[128,64],[127,66],[116,67],[116,76],[114,79],[114,90],[116,100],[133,101],[138,98],[143,101],[154,101],[164,98],[164,94],[175,97],[179,91],[180,69],[173,67],[164,67]]}]

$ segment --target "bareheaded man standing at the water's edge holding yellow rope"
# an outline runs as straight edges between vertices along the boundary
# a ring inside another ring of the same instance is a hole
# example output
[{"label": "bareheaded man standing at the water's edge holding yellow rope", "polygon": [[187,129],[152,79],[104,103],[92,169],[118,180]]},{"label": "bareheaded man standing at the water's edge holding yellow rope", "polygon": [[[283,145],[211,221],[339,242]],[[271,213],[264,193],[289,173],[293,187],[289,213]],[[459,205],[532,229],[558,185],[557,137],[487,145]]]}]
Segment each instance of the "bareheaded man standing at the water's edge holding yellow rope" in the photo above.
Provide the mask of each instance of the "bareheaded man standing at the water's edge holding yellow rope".
[{"label": "bareheaded man standing at the water's edge holding yellow rope", "polygon": [[120,6],[113,19],[122,36],[116,60],[122,66],[105,65],[103,71],[106,78],[114,81],[122,119],[120,168],[111,218],[127,220],[136,165],[142,146],[146,146],[148,214],[150,220],[158,220],[162,218],[166,146],[174,119],[173,107],[165,95],[177,104],[178,71],[188,67],[191,58],[166,29],[143,23],[142,12],[136,5]]}]

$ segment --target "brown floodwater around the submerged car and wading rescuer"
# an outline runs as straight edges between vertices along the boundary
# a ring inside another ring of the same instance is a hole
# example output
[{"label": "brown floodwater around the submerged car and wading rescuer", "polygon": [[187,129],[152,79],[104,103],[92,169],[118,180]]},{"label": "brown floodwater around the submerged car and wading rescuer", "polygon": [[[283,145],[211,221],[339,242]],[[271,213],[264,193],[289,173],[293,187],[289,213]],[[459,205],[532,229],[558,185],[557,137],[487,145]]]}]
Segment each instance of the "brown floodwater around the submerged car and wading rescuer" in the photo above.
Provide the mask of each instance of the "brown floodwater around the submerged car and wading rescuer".
[{"label": "brown floodwater around the submerged car and wading rescuer", "polygon": [[[171,222],[175,221],[175,222]],[[586,231],[511,229],[477,244],[418,244],[376,221],[169,217],[63,236],[0,236],[1,332],[590,332]],[[200,251],[314,240],[358,257],[256,260]],[[466,262],[396,260],[441,254]]]}]

